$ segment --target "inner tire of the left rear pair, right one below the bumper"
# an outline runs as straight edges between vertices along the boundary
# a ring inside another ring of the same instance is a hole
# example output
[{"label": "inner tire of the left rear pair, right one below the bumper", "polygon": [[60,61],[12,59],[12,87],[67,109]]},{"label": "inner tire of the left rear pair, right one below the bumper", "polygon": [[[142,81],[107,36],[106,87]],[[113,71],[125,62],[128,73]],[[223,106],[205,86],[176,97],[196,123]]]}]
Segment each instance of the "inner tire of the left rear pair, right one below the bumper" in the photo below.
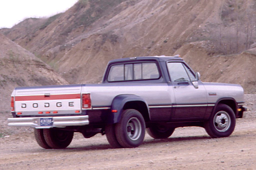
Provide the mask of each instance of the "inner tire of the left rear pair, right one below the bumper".
[{"label": "inner tire of the left rear pair, right one below the bumper", "polygon": [[46,143],[54,149],[66,148],[73,139],[74,132],[57,128],[44,129]]}]

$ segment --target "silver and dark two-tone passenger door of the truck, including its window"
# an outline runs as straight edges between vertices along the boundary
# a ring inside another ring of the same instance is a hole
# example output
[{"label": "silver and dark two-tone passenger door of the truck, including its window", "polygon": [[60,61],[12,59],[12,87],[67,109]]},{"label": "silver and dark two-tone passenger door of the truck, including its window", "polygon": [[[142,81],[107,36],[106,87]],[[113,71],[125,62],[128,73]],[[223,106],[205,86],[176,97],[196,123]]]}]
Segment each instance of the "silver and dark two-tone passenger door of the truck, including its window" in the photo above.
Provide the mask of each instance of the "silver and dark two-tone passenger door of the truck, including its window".
[{"label": "silver and dark two-tone passenger door of the truck, including its window", "polygon": [[183,62],[168,62],[167,67],[175,95],[173,120],[203,119],[207,95],[202,82],[199,80],[198,88],[194,87],[192,82],[196,81],[195,75]]}]

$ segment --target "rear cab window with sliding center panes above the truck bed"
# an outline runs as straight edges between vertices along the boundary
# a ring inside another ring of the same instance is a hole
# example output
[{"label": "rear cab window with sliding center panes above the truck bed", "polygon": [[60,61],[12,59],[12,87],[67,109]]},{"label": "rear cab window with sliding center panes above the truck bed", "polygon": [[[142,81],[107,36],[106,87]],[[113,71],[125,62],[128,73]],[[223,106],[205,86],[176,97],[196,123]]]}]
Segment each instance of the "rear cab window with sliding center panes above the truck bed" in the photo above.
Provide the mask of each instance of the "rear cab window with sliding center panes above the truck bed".
[{"label": "rear cab window with sliding center panes above the truck bed", "polygon": [[161,77],[155,62],[116,64],[110,66],[108,82],[155,80]]}]

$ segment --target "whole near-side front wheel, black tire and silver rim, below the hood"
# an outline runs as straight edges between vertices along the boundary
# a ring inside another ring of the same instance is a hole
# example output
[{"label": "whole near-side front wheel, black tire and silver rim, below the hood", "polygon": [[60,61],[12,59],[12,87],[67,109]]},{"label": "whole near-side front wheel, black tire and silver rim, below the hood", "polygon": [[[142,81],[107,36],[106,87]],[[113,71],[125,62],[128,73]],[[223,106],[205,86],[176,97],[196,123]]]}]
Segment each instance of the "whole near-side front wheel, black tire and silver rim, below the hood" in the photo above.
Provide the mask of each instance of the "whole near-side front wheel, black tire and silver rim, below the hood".
[{"label": "whole near-side front wheel, black tire and silver rim, below the hood", "polygon": [[226,104],[218,104],[214,114],[205,122],[205,131],[212,138],[228,137],[236,126],[234,111]]}]

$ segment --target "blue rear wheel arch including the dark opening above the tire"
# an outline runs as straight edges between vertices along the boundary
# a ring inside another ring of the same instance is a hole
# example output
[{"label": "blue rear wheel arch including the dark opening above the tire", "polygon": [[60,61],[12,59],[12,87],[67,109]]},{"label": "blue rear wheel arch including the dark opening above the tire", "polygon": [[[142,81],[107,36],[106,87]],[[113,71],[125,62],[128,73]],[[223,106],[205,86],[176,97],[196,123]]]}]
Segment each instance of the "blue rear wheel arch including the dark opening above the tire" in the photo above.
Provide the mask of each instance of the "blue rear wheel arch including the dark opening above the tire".
[{"label": "blue rear wheel arch including the dark opening above the tire", "polygon": [[115,96],[112,101],[108,123],[118,123],[121,119],[123,110],[126,109],[135,109],[142,114],[145,122],[150,121],[148,105],[143,98],[134,94],[121,94]]}]

